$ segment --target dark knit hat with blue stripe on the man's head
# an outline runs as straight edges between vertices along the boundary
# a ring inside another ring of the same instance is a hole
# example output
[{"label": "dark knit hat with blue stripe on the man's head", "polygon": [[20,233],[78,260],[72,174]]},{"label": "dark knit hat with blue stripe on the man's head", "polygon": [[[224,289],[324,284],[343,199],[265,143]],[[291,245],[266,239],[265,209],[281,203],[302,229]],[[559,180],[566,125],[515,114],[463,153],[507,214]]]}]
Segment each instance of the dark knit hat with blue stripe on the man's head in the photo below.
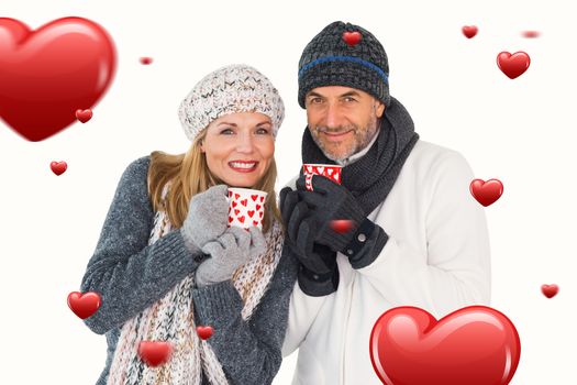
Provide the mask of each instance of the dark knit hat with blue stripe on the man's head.
[{"label": "dark knit hat with blue stripe on the man's head", "polygon": [[389,105],[389,63],[380,42],[367,30],[335,21],[304,47],[299,61],[299,105],[317,87],[360,89]]}]

